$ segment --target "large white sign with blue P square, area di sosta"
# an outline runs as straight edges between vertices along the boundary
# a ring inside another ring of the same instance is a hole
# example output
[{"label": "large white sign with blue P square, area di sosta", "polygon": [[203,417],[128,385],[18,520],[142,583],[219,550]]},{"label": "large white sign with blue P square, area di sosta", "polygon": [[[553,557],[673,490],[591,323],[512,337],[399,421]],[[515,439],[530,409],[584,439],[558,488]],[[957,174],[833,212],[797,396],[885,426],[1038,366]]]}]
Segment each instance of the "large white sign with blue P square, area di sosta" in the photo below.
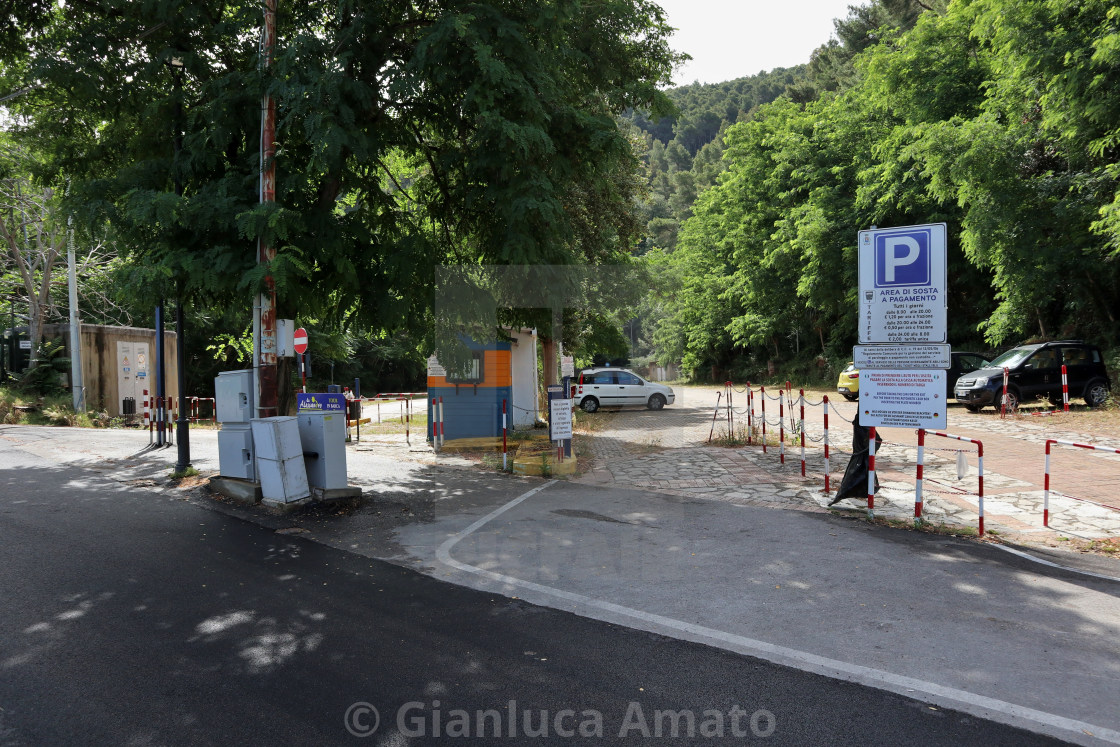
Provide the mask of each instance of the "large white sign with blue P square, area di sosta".
[{"label": "large white sign with blue P square, area di sosta", "polygon": [[945,224],[859,232],[859,342],[944,343]]}]

